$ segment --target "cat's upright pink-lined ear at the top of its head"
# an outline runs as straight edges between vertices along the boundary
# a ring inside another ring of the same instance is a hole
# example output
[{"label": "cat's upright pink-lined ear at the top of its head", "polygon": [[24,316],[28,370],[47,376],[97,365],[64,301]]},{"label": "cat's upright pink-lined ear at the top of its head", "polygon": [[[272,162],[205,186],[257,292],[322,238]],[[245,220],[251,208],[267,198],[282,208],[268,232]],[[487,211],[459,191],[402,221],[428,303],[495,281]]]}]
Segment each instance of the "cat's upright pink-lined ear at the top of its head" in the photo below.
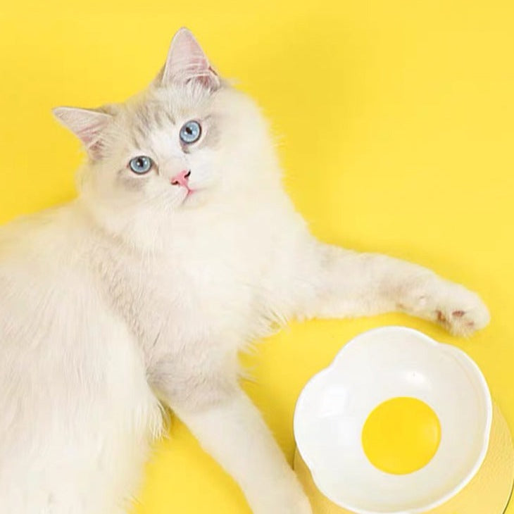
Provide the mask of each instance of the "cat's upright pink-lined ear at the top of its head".
[{"label": "cat's upright pink-lined ear at the top of its head", "polygon": [[161,84],[186,84],[194,80],[213,91],[220,87],[218,74],[213,70],[192,32],[185,27],[173,37],[159,78]]}]

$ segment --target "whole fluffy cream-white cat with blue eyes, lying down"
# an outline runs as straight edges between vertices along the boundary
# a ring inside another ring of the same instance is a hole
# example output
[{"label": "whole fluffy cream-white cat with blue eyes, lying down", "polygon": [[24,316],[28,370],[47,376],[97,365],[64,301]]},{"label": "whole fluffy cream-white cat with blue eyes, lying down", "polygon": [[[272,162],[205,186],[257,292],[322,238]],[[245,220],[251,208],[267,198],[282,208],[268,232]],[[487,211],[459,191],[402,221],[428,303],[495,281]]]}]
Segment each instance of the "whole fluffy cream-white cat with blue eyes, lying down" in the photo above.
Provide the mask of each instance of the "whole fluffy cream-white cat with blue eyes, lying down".
[{"label": "whole fluffy cream-white cat with blue eyes, lying down", "polygon": [[79,195],[0,230],[4,514],[126,513],[163,406],[253,513],[310,514],[238,351],[292,318],[489,321],[430,270],[315,239],[263,115],[185,28],[142,94],[54,114],[86,152]]}]

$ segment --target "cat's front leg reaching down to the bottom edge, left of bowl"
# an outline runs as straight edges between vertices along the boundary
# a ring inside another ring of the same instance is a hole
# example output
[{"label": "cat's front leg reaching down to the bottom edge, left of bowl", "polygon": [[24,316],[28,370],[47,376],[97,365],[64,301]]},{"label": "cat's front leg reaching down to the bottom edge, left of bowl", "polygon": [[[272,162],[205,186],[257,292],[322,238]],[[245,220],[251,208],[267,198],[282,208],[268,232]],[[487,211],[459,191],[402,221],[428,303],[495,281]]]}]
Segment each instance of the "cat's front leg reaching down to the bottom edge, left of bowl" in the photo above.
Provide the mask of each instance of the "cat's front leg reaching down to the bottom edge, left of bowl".
[{"label": "cat's front leg reaching down to the bottom edge, left of bowl", "polygon": [[203,449],[238,482],[253,514],[312,514],[296,475],[235,377],[202,374],[178,385],[161,380],[158,389]]}]

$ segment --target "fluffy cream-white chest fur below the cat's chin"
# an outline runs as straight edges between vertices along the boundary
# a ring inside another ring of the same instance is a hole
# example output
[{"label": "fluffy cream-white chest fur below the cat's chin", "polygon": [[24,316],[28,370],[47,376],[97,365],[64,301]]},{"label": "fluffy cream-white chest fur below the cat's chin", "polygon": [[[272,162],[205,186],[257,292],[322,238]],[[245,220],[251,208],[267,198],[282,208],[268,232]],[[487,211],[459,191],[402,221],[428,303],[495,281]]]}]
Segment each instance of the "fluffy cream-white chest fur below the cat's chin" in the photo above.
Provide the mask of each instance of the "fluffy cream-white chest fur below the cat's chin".
[{"label": "fluffy cream-white chest fur below the cat's chin", "polygon": [[[259,211],[189,216],[158,251],[99,244],[92,262],[106,299],[139,339],[149,368],[185,353],[231,352],[270,330],[285,227]],[[190,357],[189,357],[190,358]]]}]

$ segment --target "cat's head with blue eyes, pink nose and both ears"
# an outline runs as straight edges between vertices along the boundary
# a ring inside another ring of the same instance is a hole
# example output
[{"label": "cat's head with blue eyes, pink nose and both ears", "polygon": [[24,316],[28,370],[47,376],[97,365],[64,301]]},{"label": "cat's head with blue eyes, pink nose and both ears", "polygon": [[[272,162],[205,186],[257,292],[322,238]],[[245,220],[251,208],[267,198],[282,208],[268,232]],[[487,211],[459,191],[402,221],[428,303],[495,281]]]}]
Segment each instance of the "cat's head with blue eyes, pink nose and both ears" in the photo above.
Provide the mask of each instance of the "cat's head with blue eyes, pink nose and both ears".
[{"label": "cat's head with blue eyes, pink nose and both ears", "polygon": [[173,214],[255,194],[275,153],[253,101],[222,80],[189,30],[141,94],[54,114],[81,140],[82,196],[102,215]]}]

